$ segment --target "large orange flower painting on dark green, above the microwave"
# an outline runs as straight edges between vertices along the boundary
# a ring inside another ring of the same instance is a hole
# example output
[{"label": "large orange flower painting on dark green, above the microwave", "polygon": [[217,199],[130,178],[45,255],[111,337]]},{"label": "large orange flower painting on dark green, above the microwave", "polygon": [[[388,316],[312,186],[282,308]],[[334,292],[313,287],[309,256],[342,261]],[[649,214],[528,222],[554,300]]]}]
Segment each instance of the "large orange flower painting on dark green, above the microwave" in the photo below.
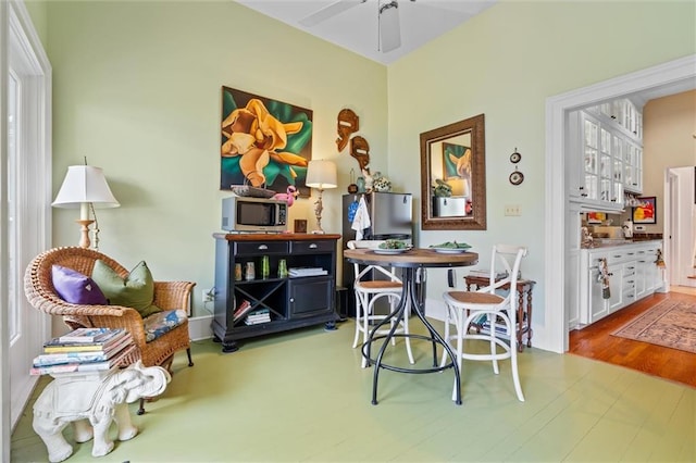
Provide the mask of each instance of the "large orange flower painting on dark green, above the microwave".
[{"label": "large orange flower painting on dark green, above the microwave", "polygon": [[220,189],[248,185],[308,197],[312,159],[312,111],[222,88]]}]

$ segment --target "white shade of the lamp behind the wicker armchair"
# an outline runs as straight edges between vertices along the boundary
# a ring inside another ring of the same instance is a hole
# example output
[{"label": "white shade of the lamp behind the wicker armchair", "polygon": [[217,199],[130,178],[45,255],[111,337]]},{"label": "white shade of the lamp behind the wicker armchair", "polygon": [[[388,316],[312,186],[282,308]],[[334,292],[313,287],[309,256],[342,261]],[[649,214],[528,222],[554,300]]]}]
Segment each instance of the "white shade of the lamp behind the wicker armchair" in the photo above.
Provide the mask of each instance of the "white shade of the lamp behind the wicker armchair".
[{"label": "white shade of the lamp behind the wicker armchair", "polygon": [[104,173],[100,167],[91,165],[71,165],[63,179],[63,185],[58,191],[54,208],[77,209],[83,203],[91,202],[95,208],[117,208],[116,201]]}]

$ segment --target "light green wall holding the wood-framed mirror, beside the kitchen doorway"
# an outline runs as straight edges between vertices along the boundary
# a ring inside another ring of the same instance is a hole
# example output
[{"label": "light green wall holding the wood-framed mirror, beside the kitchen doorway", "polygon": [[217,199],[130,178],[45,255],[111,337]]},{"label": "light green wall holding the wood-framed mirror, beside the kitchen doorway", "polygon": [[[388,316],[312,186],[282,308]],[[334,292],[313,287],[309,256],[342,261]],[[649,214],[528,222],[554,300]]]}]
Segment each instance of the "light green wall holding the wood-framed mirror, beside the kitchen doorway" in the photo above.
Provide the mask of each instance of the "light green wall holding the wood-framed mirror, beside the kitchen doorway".
[{"label": "light green wall holding the wood-framed mirror, beside the kitchen doorway", "polygon": [[[526,245],[522,273],[537,281],[543,324],[546,99],[695,52],[694,2],[505,1],[390,65],[391,176],[419,177],[420,133],[485,114],[487,230],[421,232],[421,246],[457,238],[488,267],[495,242]],[[515,148],[520,186],[508,182]],[[506,204],[521,216],[504,216]],[[446,281],[428,272],[428,296]]]}]

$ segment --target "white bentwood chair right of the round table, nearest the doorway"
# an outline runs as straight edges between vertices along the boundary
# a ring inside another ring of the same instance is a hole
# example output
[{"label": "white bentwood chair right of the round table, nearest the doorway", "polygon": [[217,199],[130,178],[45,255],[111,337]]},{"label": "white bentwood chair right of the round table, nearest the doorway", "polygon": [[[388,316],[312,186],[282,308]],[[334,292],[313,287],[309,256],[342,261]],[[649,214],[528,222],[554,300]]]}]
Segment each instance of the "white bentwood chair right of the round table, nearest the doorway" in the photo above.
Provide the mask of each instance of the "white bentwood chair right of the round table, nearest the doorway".
[{"label": "white bentwood chair right of the round table, nearest the doorway", "polygon": [[[443,295],[447,306],[445,340],[450,343],[457,341],[452,349],[457,354],[460,372],[462,359],[493,361],[493,371],[497,375],[500,373],[498,361],[510,359],[514,390],[521,402],[524,402],[524,395],[518,374],[517,283],[520,264],[525,255],[524,247],[496,245],[493,247],[488,286],[476,291],[447,291]],[[502,272],[507,272],[507,277],[496,281],[496,275]],[[496,289],[506,285],[510,285],[507,296],[496,293]],[[450,335],[451,325],[455,326],[455,335]],[[472,326],[476,326],[474,331],[470,330]],[[464,340],[484,340],[490,345],[490,353],[467,352],[465,348],[472,343],[464,346]],[[446,353],[443,352],[443,365]]]}]

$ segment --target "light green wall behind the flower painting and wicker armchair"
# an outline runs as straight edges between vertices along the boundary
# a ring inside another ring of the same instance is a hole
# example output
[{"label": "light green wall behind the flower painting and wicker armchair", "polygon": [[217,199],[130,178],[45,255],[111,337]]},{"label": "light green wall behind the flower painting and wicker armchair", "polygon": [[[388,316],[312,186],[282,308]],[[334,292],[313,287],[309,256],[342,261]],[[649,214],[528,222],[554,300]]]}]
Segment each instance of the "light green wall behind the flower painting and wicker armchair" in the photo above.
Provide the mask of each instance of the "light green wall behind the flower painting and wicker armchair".
[{"label": "light green wall behind the flower painting and wicker armchair", "polygon": [[[358,112],[374,166],[386,170],[383,65],[232,1],[51,1],[48,23],[53,190],[83,157],[102,167],[121,208],[98,211],[100,250],[126,267],[145,259],[157,279],[197,281],[196,315],[231,195],[220,190],[222,86],[313,110],[313,158],[340,172],[324,193],[326,230],[339,232],[339,197],[358,167],[337,152],[343,108]],[[76,211],[53,216],[53,245],[77,243]],[[313,228],[313,200],[297,201],[294,218]]]}]

